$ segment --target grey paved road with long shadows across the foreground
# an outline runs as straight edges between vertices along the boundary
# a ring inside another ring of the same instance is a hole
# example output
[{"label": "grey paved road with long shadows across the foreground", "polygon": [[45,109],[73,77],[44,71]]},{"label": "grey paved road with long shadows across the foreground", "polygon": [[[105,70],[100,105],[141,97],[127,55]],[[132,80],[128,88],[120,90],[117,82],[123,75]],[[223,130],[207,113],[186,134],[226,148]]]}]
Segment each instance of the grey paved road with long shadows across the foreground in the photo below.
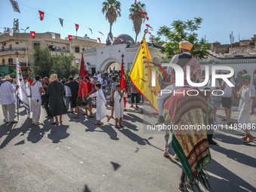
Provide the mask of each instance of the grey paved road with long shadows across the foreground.
[{"label": "grey paved road with long shadows across the foreground", "polygon": [[[113,119],[94,126],[95,119],[70,114],[52,126],[43,108],[44,125],[33,126],[20,111],[17,125],[0,124],[0,191],[180,191],[181,163],[171,147],[163,157],[163,134],[143,133],[142,114],[126,111],[126,127],[117,130]],[[212,190],[256,191],[256,143],[243,145],[243,134],[215,132],[219,146],[211,146],[206,166]]]}]

